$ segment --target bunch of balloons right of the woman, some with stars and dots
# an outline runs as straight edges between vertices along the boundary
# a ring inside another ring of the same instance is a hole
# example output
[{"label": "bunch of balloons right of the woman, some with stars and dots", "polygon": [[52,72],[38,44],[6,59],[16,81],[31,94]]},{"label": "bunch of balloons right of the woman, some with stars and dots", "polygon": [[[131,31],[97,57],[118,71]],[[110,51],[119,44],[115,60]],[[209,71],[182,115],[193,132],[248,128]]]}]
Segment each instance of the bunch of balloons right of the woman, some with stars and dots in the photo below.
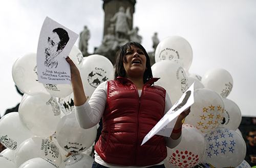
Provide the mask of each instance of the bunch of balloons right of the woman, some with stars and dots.
[{"label": "bunch of balloons right of the woman, some with stars and dots", "polygon": [[203,77],[188,73],[193,60],[189,42],[180,36],[169,36],[158,44],[153,76],[164,87],[174,104],[195,82],[195,103],[183,121],[182,140],[168,149],[166,167],[237,167],[246,154],[244,139],[238,127],[242,120],[239,107],[227,99],[233,80],[223,68],[209,69]]}]

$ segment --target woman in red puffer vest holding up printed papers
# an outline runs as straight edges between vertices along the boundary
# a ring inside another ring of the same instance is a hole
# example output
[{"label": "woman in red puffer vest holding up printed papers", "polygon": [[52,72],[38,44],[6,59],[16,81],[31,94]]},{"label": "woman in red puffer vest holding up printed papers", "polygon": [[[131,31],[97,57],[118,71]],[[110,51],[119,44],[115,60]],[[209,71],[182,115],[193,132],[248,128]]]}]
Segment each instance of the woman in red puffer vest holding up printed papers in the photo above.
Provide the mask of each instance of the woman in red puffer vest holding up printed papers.
[{"label": "woman in red puffer vest holding up printed papers", "polygon": [[154,86],[144,47],[128,42],[117,53],[114,81],[101,83],[89,102],[84,95],[78,69],[71,66],[71,83],[77,121],[84,129],[95,126],[102,117],[101,136],[95,145],[93,167],[164,167],[166,146],[176,147],[181,140],[182,119],[190,109],[177,119],[170,137],[154,135],[144,145],[145,135],[172,107],[165,89]]}]

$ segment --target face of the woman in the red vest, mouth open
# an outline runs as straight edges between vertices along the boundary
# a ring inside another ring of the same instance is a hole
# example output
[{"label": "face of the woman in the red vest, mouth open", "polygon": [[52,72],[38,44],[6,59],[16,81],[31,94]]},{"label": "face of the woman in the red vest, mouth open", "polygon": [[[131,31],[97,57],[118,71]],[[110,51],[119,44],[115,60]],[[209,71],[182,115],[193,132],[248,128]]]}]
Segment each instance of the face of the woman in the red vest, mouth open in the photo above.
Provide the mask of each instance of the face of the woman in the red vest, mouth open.
[{"label": "face of the woman in the red vest, mouth open", "polygon": [[146,69],[146,56],[143,51],[134,45],[125,53],[127,62],[123,62],[126,78],[142,77]]}]

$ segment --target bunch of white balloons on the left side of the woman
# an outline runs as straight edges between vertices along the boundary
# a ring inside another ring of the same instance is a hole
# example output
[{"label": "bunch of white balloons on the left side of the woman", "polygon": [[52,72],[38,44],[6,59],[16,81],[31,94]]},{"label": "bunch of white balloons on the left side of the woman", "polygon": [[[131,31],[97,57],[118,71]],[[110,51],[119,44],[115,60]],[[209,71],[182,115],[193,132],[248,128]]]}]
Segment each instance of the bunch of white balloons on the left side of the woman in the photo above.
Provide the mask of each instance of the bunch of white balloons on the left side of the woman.
[{"label": "bunch of white balloons on the left side of the woman", "polygon": [[[73,46],[69,57],[80,70],[88,99],[100,83],[114,78],[113,64],[104,56],[83,57]],[[0,142],[6,147],[0,153],[1,167],[91,167],[98,125],[80,128],[72,86],[39,83],[36,53],[20,56],[12,76],[24,95],[18,111],[0,119]]]}]

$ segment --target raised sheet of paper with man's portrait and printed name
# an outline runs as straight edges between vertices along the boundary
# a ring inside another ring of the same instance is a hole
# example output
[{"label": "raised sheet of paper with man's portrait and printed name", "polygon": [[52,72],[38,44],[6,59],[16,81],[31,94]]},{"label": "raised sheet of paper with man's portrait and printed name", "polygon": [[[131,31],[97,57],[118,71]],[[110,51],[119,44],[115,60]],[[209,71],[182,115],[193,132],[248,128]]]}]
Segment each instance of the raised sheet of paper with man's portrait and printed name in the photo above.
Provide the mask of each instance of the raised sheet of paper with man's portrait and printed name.
[{"label": "raised sheet of paper with man's portrait and printed name", "polygon": [[71,84],[70,66],[66,57],[74,46],[78,34],[46,17],[37,46],[38,82]]}]

